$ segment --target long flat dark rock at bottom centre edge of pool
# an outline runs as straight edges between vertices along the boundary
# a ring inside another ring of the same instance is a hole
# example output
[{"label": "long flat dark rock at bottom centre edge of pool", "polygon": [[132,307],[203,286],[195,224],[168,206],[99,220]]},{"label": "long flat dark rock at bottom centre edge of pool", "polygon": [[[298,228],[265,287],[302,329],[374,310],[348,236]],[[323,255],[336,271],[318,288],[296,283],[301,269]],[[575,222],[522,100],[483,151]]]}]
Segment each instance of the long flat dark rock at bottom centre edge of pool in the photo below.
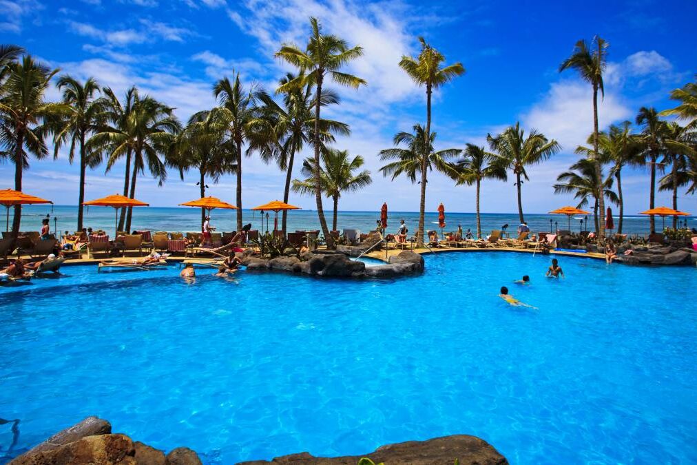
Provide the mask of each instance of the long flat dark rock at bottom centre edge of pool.
[{"label": "long flat dark rock at bottom centre edge of pool", "polygon": [[367,457],[376,464],[388,465],[452,465],[458,459],[460,465],[506,465],[508,461],[486,441],[475,436],[459,434],[429,441],[408,441],[406,443],[383,445],[375,452],[353,457],[323,458],[313,457],[307,452],[276,457],[272,462],[257,460],[238,465],[355,465]]}]

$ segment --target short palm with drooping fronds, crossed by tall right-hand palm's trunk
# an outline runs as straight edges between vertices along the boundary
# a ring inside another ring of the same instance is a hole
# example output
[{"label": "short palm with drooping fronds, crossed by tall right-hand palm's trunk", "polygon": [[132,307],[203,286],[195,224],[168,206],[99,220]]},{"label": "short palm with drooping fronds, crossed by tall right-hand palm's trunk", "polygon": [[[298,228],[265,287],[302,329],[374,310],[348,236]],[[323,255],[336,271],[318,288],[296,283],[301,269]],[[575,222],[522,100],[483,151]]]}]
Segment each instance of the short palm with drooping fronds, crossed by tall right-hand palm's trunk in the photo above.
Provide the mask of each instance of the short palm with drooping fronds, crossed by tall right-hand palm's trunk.
[{"label": "short palm with drooping fronds, crossed by tall right-hand palm's trunk", "polygon": [[600,192],[602,192],[603,195],[615,205],[620,202],[620,199],[618,198],[618,195],[611,190],[613,185],[612,176],[608,176],[603,182],[600,182],[600,179],[597,178],[597,165],[597,160],[581,158],[581,160],[569,167],[569,169],[572,171],[565,171],[557,176],[557,181],[559,184],[554,185],[554,193],[573,193],[574,197],[579,199],[579,204],[576,205],[576,208],[585,207],[588,205],[589,199],[593,199],[593,219],[595,220],[595,232],[596,234],[599,234],[600,227],[601,225],[604,226],[604,223],[602,218],[599,218],[598,211],[600,211],[600,216],[604,215],[605,212],[602,208],[600,208]]}]

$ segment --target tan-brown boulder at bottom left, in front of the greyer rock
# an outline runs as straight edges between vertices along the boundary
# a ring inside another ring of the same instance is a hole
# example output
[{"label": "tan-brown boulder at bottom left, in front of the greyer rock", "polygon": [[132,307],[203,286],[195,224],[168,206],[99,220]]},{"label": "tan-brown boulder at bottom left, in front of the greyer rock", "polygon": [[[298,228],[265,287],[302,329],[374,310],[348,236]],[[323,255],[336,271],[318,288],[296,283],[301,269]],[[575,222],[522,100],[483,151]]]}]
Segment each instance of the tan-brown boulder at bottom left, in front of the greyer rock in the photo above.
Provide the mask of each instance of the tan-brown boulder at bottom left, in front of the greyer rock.
[{"label": "tan-brown boulder at bottom left, in front of the greyer rock", "polygon": [[[137,465],[133,441],[124,434],[85,436],[75,442],[39,452],[29,451],[11,465]],[[199,462],[200,463],[200,462]]]}]

